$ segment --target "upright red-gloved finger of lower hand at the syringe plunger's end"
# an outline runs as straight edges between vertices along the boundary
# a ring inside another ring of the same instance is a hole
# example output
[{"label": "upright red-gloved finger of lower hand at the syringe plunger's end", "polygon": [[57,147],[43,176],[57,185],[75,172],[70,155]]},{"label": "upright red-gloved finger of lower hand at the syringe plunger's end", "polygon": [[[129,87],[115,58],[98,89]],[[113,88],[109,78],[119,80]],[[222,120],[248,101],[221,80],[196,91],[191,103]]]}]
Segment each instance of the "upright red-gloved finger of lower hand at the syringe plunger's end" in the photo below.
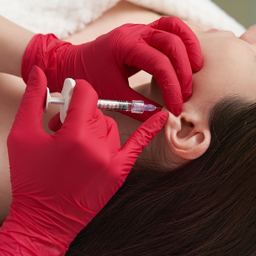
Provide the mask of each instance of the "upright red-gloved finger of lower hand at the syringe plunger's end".
[{"label": "upright red-gloved finger of lower hand at the syringe plunger's end", "polygon": [[46,76],[39,67],[33,66],[25,93],[20,101],[13,127],[22,130],[43,130],[43,110],[46,101]]}]

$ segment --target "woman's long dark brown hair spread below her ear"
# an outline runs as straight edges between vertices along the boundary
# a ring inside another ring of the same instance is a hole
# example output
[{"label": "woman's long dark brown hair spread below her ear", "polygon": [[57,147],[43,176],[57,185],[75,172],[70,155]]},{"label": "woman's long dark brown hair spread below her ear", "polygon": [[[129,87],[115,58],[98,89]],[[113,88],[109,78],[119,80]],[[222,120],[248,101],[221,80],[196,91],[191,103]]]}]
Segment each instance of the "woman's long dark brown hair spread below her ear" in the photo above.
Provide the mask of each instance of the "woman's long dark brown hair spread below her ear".
[{"label": "woman's long dark brown hair spread below her ear", "polygon": [[211,144],[173,169],[136,163],[66,255],[255,255],[256,103],[224,98]]}]

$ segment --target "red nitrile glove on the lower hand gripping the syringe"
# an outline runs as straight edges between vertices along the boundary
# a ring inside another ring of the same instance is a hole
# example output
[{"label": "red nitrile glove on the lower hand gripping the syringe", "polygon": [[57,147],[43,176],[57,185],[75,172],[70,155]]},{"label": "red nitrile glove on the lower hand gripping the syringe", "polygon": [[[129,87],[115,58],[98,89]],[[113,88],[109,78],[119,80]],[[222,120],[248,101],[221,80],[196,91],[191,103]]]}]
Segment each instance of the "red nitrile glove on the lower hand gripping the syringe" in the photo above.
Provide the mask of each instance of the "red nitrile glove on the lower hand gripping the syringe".
[{"label": "red nitrile glove on the lower hand gripping the syringe", "polygon": [[96,108],[95,90],[76,80],[65,122],[48,135],[46,84],[33,67],[7,139],[13,199],[0,228],[1,255],[64,255],[168,117],[156,113],[121,148],[115,121]]}]

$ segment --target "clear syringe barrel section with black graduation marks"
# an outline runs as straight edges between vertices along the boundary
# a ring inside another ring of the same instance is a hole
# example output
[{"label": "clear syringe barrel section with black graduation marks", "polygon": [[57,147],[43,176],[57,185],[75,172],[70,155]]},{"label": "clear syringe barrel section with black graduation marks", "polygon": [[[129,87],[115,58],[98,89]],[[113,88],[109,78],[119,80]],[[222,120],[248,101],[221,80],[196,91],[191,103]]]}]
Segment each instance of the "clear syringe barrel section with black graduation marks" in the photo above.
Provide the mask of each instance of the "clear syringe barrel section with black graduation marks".
[{"label": "clear syringe barrel section with black graduation marks", "polygon": [[131,111],[132,102],[127,100],[98,100],[98,109]]}]

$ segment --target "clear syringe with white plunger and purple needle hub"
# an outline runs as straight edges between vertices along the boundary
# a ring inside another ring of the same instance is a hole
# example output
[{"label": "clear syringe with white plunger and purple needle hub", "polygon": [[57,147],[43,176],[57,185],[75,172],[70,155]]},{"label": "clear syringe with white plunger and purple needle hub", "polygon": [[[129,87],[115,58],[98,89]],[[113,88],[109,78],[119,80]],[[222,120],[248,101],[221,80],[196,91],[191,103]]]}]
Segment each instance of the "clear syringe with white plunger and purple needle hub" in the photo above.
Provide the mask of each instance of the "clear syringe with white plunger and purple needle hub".
[{"label": "clear syringe with white plunger and purple needle hub", "polygon": [[[60,106],[60,119],[63,123],[67,115],[67,109],[72,97],[74,86],[76,82],[72,78],[65,79],[61,95],[63,98],[53,98],[50,96],[49,89],[47,87],[45,112],[47,111],[50,104],[59,104]],[[98,100],[97,108],[106,110],[121,110],[131,111],[132,113],[142,114],[143,111],[154,111],[156,106],[152,104],[144,104],[143,100]]]}]

